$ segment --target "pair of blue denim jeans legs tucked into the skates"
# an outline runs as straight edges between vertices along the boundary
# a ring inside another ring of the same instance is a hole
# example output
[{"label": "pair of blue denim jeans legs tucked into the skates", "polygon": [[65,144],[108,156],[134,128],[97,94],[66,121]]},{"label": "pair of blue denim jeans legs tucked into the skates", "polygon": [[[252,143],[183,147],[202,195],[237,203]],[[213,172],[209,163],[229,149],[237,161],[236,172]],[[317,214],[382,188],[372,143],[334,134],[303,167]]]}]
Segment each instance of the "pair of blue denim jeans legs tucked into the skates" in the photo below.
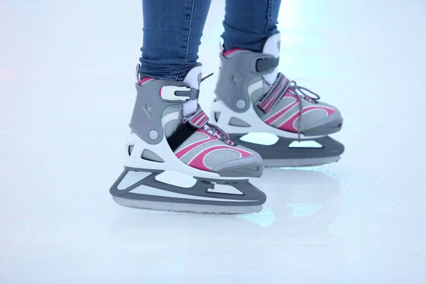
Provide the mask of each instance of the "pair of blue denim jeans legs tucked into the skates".
[{"label": "pair of blue denim jeans legs tucked into the skates", "polygon": [[[212,0],[143,0],[142,76],[182,80],[198,60]],[[278,33],[281,0],[226,0],[224,50],[261,51]]]}]

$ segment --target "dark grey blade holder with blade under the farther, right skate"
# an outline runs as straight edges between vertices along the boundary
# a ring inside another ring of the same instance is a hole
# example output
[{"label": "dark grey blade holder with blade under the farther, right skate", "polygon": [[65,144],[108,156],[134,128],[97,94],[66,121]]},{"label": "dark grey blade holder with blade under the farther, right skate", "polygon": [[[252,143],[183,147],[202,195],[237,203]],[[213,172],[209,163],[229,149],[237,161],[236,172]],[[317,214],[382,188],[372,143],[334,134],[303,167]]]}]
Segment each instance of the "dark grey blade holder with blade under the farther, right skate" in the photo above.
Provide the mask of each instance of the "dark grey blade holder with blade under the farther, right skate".
[{"label": "dark grey blade holder with blade under the farther, right skate", "polygon": [[292,147],[290,146],[297,139],[279,137],[273,145],[262,145],[242,141],[241,137],[247,133],[233,133],[229,137],[237,145],[252,149],[263,158],[263,163],[267,168],[282,167],[307,167],[312,165],[324,165],[334,163],[340,159],[344,152],[342,143],[329,136],[310,139],[321,145],[321,147]]}]

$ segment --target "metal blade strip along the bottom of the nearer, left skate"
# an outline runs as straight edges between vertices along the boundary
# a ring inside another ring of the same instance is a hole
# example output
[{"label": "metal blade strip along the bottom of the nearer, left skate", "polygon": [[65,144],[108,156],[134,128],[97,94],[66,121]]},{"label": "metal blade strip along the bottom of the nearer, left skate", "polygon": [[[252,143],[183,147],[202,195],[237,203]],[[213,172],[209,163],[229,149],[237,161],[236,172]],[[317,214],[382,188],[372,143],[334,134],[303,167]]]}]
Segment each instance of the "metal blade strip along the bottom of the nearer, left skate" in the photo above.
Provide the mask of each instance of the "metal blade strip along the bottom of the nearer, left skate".
[{"label": "metal blade strip along the bottom of the nearer, left skate", "polygon": [[250,214],[260,212],[262,205],[253,206],[222,206],[222,205],[206,205],[206,204],[187,204],[172,202],[156,202],[147,200],[128,200],[121,197],[113,196],[112,199],[116,204],[124,207],[138,209],[152,209],[158,211],[169,212],[190,212],[203,214]]}]

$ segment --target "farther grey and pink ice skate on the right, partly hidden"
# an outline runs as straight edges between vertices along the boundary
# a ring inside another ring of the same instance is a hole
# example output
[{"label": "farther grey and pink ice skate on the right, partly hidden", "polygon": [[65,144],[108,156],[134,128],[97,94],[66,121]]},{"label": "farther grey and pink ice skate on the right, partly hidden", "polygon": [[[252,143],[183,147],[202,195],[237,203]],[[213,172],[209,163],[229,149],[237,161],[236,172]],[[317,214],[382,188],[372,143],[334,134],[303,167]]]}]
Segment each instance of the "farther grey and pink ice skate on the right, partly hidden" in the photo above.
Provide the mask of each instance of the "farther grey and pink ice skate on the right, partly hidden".
[{"label": "farther grey and pink ice skate on the right, partly hidden", "polygon": [[[220,54],[212,117],[232,141],[258,152],[266,167],[336,162],[344,146],[328,135],[342,129],[339,110],[278,73],[279,50],[278,33],[262,53],[236,48]],[[270,133],[278,141],[253,141],[248,133],[257,140]]]}]

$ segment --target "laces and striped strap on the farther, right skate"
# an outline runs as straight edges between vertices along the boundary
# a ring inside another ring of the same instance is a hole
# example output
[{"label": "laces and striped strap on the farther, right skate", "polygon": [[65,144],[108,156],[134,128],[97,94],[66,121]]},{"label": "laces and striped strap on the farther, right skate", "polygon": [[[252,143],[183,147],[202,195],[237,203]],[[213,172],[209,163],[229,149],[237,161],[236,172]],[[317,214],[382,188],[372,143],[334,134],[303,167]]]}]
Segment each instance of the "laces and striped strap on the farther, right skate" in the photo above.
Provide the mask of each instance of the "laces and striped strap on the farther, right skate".
[{"label": "laces and striped strap on the farther, right skate", "polygon": [[[273,87],[266,93],[261,101],[256,103],[256,106],[263,112],[267,113],[282,99],[285,94],[290,93],[297,99],[299,104],[299,119],[297,126],[297,136],[300,142],[300,126],[302,124],[303,105],[302,102],[305,100],[312,104],[317,104],[318,100],[321,99],[320,95],[312,92],[310,89],[298,86],[295,81],[288,80],[282,73],[278,73],[277,80],[273,84]],[[312,97],[314,96],[314,97]]]}]

